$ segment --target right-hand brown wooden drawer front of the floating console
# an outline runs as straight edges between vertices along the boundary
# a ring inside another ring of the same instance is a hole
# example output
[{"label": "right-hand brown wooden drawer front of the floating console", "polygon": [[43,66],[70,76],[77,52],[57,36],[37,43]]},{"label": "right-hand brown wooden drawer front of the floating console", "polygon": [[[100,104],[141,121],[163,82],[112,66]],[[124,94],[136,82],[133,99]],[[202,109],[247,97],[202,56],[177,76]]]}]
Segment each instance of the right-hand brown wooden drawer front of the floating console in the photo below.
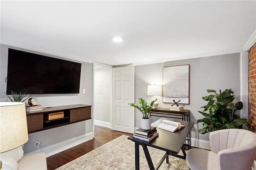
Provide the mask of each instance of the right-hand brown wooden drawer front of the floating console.
[{"label": "right-hand brown wooden drawer front of the floating console", "polygon": [[70,110],[70,123],[91,119],[91,107]]}]

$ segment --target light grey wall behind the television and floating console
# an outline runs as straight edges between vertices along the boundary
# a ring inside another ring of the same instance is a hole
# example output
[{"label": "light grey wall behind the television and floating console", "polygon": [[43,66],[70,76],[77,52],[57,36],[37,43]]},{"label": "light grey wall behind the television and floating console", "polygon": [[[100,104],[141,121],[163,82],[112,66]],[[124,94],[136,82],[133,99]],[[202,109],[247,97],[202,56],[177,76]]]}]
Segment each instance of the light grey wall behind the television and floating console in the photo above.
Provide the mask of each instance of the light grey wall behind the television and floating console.
[{"label": "light grey wall behind the television and floating console", "polygon": [[[4,91],[6,91],[5,78],[7,76],[7,61],[8,61],[8,45],[1,44],[0,51],[0,101],[9,101],[6,97]],[[13,49],[18,49],[21,51],[27,51],[32,53],[37,53],[40,55],[46,55],[49,57],[56,57],[64,59],[62,57],[47,55],[39,53],[36,51],[30,51],[26,49],[20,49],[17,47],[11,47]],[[70,60],[70,59],[66,59]],[[74,61],[74,60],[70,60]],[[79,62],[79,61],[76,61]],[[81,79],[80,79],[80,93],[79,94],[67,94],[67,95],[32,95],[38,99],[38,104],[42,107],[54,107],[63,105],[73,105],[73,104],[85,104],[92,105],[92,64],[82,63],[81,67]],[[82,89],[86,89],[86,94],[82,94]],[[26,105],[27,101],[25,101]],[[78,136],[85,136],[86,134],[92,133],[92,119],[87,121],[82,121],[79,123],[74,123],[58,128],[52,128],[49,130],[44,130],[40,132],[30,133],[29,140],[24,145],[24,153],[32,152],[37,150],[34,147],[34,142],[40,141],[41,148],[52,146],[56,143],[63,142],[65,140],[70,140],[71,138],[76,138]],[[91,136],[90,136],[91,138]],[[86,138],[84,138],[87,140]],[[89,138],[88,138],[89,139]]]}]

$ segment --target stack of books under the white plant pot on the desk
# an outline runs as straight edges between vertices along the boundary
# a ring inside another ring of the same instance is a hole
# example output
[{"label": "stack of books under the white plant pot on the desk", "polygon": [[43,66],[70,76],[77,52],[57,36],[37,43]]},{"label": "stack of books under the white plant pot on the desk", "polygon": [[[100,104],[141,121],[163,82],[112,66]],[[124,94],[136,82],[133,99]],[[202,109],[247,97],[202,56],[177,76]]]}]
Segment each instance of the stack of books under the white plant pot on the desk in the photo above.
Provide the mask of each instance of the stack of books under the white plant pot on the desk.
[{"label": "stack of books under the white plant pot on the desk", "polygon": [[151,127],[150,130],[144,130],[142,128],[138,128],[135,130],[135,133],[133,134],[134,138],[138,138],[140,140],[145,140],[147,142],[154,139],[156,136],[158,136],[156,127]]}]

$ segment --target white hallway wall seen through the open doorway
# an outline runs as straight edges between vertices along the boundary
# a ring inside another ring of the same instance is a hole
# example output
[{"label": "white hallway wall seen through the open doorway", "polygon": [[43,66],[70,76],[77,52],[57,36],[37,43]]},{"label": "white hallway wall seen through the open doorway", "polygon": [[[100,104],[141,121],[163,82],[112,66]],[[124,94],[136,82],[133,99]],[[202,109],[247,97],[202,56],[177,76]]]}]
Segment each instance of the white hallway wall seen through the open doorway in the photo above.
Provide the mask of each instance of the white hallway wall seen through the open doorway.
[{"label": "white hallway wall seen through the open doorway", "polygon": [[[100,84],[101,83],[101,84]],[[100,87],[102,85],[102,87]],[[110,127],[111,69],[94,71],[94,124]]]}]

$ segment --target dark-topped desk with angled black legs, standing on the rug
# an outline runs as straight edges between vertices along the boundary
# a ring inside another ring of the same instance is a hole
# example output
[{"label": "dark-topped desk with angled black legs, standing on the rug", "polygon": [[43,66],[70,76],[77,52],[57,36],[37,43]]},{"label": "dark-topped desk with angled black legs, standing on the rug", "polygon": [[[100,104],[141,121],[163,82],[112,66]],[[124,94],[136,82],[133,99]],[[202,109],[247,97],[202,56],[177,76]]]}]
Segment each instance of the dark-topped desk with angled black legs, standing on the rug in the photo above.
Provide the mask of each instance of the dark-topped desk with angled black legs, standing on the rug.
[{"label": "dark-topped desk with angled black legs, standing on the rug", "polygon": [[[185,125],[186,127],[182,128],[180,130],[177,130],[176,132],[170,132],[167,130],[157,128],[159,135],[158,135],[158,137],[154,138],[150,142],[146,142],[144,140],[134,138],[134,137],[132,137],[132,135],[129,136],[128,139],[135,142],[135,168],[136,168],[136,170],[140,169],[139,145],[142,145],[142,148],[144,150],[150,170],[158,169],[160,167],[160,165],[162,164],[162,162],[164,162],[165,158],[166,158],[166,163],[169,163],[168,155],[186,159],[186,152],[184,150],[183,144],[184,144],[186,137],[188,136],[191,128],[193,127],[194,123],[187,122],[187,121],[180,121],[177,119],[162,118],[162,119],[159,119],[158,121],[152,123],[151,126],[157,127],[157,125],[162,123],[162,120],[164,120],[164,119],[180,122],[182,125]],[[166,153],[164,154],[164,156],[162,157],[160,162],[156,165],[156,168],[154,167],[154,165],[152,163],[152,159],[148,152],[147,146],[151,146],[153,148],[158,148],[160,150],[166,151]],[[182,150],[184,156],[178,155],[180,149]]]}]

